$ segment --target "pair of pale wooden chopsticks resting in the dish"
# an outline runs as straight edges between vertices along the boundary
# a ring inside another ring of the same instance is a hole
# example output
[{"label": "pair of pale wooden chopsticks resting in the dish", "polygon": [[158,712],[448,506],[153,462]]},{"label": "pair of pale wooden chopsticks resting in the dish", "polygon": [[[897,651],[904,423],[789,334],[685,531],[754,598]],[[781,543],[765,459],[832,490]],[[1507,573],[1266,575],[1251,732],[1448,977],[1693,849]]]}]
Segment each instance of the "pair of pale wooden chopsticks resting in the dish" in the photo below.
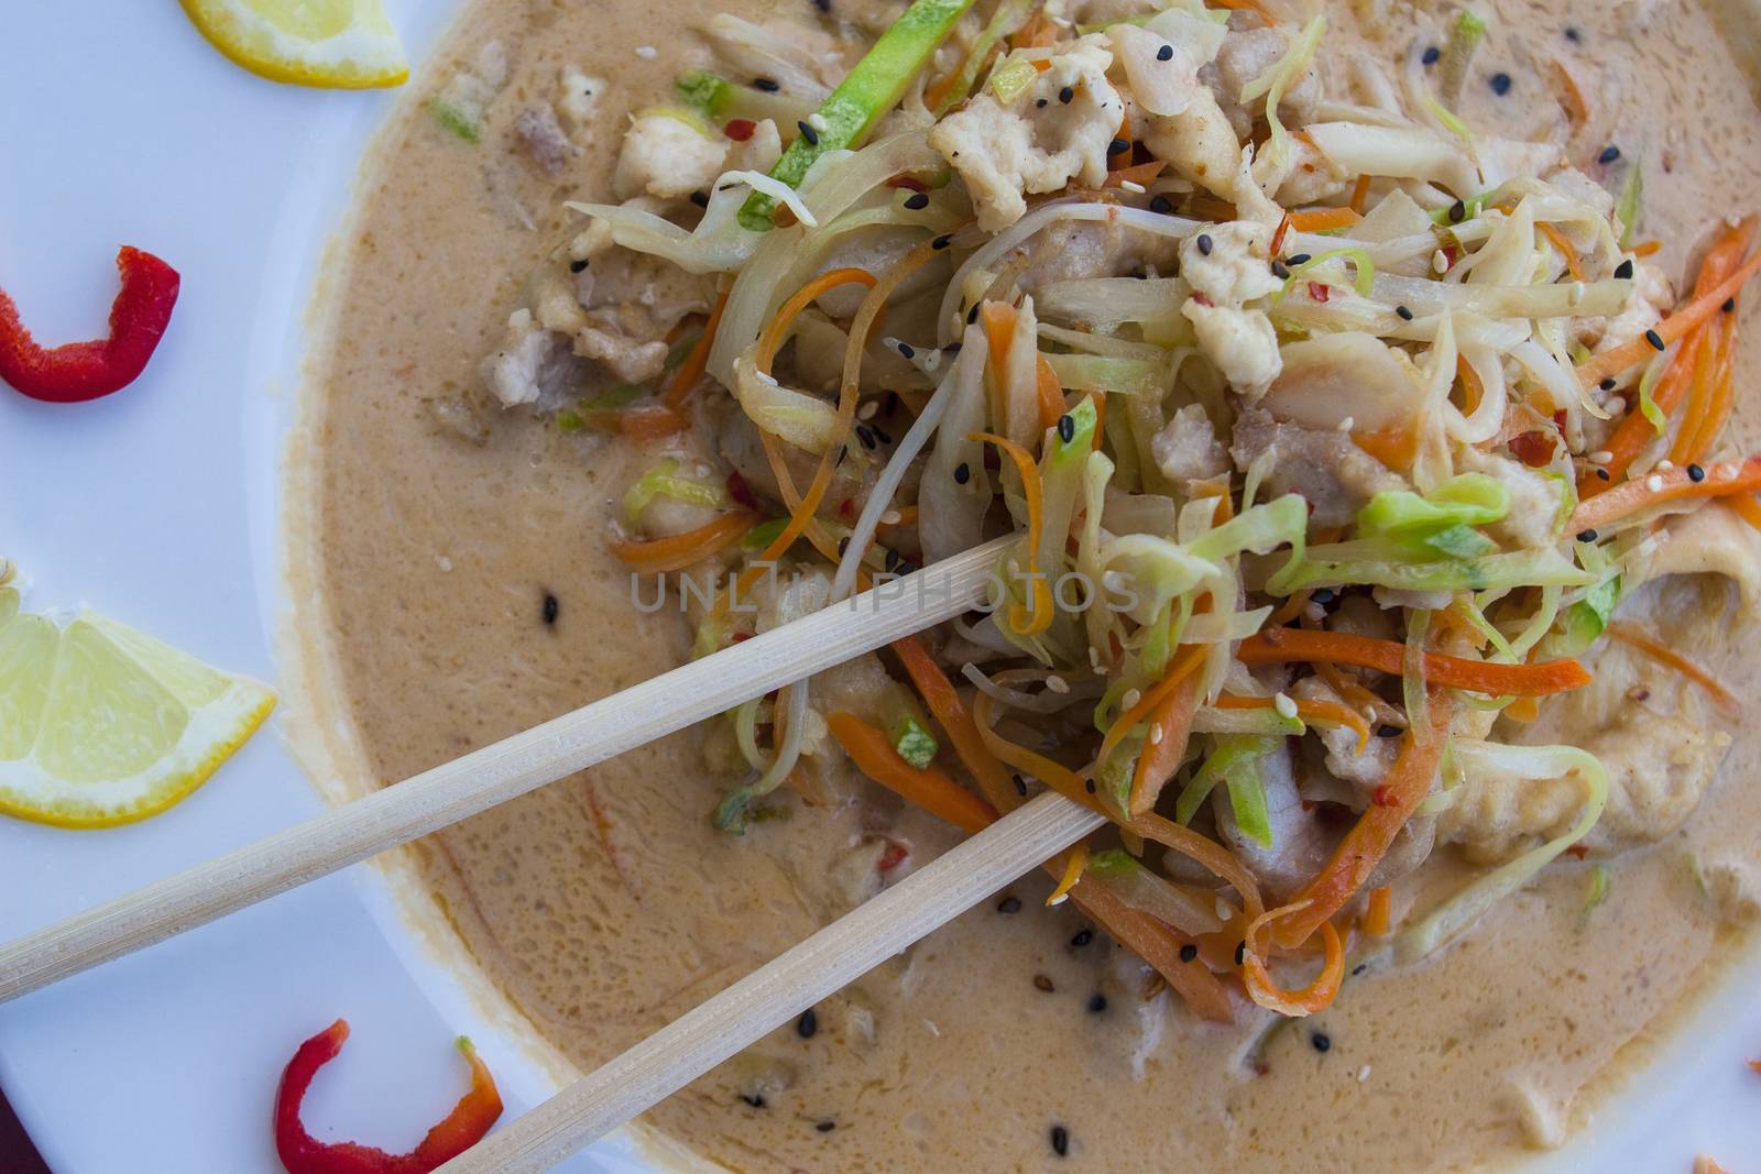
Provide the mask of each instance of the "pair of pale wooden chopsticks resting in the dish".
[{"label": "pair of pale wooden chopsticks resting in the dish", "polygon": [[[0,1002],[204,926],[625,750],[951,620],[984,595],[997,539],[423,771],[0,945]],[[1065,850],[1102,817],[1046,794],[446,1163],[544,1170]]]}]

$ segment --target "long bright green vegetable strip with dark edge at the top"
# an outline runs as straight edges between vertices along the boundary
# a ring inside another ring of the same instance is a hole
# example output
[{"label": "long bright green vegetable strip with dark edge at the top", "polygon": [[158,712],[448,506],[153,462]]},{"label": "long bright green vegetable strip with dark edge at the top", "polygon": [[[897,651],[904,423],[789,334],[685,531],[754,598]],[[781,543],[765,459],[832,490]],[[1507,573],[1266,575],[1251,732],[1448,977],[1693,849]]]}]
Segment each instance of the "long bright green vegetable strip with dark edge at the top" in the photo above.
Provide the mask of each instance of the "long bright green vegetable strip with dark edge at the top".
[{"label": "long bright green vegetable strip with dark edge at the top", "polygon": [[[771,178],[798,187],[826,151],[859,146],[970,7],[972,0],[912,0],[819,107],[815,118],[822,125],[789,144],[771,167]],[[768,231],[775,204],[763,192],[754,192],[740,208],[740,224],[754,232]]]}]

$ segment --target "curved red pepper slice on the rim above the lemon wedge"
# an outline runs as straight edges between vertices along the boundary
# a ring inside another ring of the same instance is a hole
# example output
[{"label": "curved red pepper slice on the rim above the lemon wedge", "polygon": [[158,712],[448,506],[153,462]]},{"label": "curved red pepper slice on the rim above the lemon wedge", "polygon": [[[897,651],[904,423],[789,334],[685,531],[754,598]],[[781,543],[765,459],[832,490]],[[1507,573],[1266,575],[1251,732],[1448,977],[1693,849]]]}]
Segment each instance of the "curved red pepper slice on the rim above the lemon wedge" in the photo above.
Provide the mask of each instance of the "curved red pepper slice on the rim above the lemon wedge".
[{"label": "curved red pepper slice on the rim above the lemon wedge", "polygon": [[141,375],[178,305],[178,271],[127,245],[116,252],[122,292],[111,303],[109,338],[44,349],[0,292],[0,380],[32,400],[81,403],[122,391]]}]

